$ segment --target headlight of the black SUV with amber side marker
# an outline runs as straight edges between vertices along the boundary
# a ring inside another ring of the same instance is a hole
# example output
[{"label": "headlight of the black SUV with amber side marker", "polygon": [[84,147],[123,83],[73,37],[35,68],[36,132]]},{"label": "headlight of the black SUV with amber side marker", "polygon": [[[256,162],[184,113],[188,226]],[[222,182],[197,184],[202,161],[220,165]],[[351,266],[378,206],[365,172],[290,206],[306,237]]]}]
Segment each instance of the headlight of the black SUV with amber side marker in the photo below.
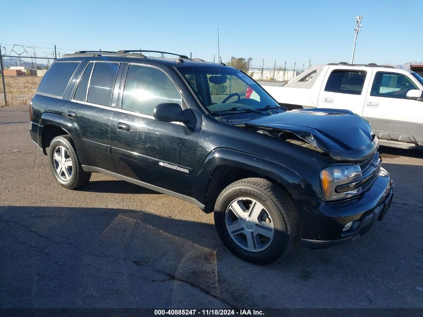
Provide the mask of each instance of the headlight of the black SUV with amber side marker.
[{"label": "headlight of the black SUV with amber side marker", "polygon": [[331,166],[320,171],[324,200],[336,200],[361,193],[361,168],[358,165]]}]

